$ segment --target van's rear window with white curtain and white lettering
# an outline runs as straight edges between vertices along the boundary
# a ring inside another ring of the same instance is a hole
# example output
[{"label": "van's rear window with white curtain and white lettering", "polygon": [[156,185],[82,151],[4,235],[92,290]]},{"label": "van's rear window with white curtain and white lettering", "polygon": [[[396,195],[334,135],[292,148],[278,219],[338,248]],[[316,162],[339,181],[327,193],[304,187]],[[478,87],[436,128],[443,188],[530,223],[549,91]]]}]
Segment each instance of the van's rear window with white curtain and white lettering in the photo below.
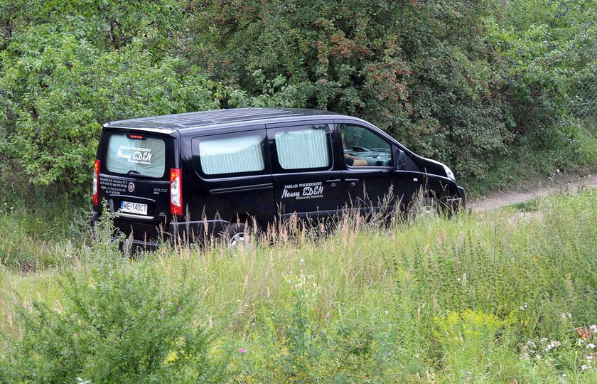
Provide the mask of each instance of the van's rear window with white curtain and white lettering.
[{"label": "van's rear window with white curtain and white lettering", "polygon": [[155,178],[166,171],[166,142],[138,134],[111,134],[106,166],[114,174]]}]

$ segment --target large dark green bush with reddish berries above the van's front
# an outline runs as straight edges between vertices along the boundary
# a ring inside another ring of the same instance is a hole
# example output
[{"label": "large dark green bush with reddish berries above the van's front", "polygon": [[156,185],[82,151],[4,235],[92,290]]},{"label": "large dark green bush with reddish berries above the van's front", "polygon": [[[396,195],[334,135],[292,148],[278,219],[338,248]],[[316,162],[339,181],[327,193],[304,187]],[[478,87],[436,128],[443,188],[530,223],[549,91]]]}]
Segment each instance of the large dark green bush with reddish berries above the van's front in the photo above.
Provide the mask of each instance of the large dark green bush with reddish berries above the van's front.
[{"label": "large dark green bush with reddish berries above the van's front", "polygon": [[[290,94],[301,107],[367,119],[473,176],[509,139],[490,90],[485,8],[461,1],[220,1],[191,16],[193,44],[203,54],[188,60],[248,95]],[[280,78],[286,87],[270,86]]]}]

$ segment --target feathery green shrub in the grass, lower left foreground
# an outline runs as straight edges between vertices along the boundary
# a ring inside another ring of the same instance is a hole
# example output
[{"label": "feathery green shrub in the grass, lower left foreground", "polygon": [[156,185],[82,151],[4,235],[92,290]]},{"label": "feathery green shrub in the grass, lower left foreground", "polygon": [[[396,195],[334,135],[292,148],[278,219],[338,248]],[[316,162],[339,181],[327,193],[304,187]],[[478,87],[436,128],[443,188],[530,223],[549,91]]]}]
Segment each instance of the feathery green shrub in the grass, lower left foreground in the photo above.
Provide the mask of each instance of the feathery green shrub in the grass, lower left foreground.
[{"label": "feathery green shrub in the grass, lower left foreground", "polygon": [[[23,336],[8,358],[10,382],[215,381],[225,367],[184,279],[162,284],[146,265],[65,274],[59,308],[22,303]],[[6,358],[6,356],[5,356]]]}]

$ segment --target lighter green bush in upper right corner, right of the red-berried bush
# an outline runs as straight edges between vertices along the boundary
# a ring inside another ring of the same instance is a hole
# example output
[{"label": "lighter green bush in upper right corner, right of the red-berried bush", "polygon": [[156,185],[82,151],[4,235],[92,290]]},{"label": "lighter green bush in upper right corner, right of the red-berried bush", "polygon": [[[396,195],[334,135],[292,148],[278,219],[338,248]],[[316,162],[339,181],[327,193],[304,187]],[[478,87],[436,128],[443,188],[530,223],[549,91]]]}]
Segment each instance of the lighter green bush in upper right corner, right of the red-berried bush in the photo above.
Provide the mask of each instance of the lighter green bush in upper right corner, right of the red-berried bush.
[{"label": "lighter green bush in upper right corner, right of the red-berried bush", "polygon": [[486,18],[495,86],[518,137],[549,133],[568,112],[576,82],[595,65],[596,16],[594,0],[525,0]]}]

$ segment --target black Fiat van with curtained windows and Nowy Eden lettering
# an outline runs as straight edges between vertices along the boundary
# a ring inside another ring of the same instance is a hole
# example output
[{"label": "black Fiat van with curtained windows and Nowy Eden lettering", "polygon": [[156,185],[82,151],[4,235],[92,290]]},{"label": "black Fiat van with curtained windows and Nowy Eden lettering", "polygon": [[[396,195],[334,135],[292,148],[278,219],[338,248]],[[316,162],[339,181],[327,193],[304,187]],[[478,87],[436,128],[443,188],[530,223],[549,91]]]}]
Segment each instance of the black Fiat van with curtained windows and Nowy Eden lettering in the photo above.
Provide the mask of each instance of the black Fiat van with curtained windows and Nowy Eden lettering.
[{"label": "black Fiat van with curtained windows and Nowy Eden lettering", "polygon": [[[244,223],[326,220],[348,208],[409,208],[423,191],[449,210],[464,189],[445,165],[414,154],[362,119],[319,110],[243,108],[104,124],[93,171],[93,216],[102,201],[134,245],[161,233],[242,241]],[[387,202],[386,202],[387,203]]]}]

